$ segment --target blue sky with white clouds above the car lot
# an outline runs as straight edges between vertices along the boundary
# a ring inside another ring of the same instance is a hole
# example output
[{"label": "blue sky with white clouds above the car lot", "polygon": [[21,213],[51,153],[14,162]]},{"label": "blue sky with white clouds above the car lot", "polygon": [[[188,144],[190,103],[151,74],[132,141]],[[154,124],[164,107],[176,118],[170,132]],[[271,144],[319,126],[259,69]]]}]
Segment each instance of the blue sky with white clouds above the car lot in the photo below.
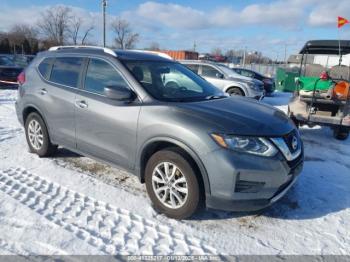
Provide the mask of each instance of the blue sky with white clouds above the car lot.
[{"label": "blue sky with white clouds above the car lot", "polygon": [[[93,23],[93,42],[101,43],[100,0],[1,0],[0,30],[15,23],[34,25],[45,8],[66,5],[86,26]],[[109,0],[108,21],[121,17],[140,34],[137,47],[159,43],[164,49],[210,52],[220,47],[261,51],[272,58],[295,53],[309,39],[337,38],[337,16],[349,16],[349,0]],[[350,26],[341,30],[350,38]],[[109,44],[113,43],[109,32]]]}]

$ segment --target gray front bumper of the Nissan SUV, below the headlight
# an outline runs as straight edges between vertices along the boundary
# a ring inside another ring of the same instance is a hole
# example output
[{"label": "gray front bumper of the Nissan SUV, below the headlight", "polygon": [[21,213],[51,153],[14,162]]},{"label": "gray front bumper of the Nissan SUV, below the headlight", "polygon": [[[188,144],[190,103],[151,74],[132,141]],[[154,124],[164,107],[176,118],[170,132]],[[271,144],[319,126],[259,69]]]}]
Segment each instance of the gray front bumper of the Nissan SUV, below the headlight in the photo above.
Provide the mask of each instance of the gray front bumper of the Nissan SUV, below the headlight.
[{"label": "gray front bumper of the Nissan SUV, below the headlight", "polygon": [[256,211],[277,202],[295,184],[303,168],[303,151],[297,159],[287,162],[281,153],[272,158],[248,154],[243,157],[220,149],[208,155],[207,160],[210,193],[206,195],[206,206]]}]

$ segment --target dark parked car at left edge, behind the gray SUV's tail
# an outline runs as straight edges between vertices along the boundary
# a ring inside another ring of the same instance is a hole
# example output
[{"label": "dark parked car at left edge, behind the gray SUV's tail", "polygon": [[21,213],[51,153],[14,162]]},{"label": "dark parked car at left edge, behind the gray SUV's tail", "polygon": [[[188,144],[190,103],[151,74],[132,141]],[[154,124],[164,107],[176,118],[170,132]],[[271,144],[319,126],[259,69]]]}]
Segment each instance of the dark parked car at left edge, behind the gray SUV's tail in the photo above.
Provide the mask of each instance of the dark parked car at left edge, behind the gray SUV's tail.
[{"label": "dark parked car at left edge, behind the gray SUV's tail", "polygon": [[17,77],[23,68],[7,55],[0,55],[0,87],[17,87]]}]

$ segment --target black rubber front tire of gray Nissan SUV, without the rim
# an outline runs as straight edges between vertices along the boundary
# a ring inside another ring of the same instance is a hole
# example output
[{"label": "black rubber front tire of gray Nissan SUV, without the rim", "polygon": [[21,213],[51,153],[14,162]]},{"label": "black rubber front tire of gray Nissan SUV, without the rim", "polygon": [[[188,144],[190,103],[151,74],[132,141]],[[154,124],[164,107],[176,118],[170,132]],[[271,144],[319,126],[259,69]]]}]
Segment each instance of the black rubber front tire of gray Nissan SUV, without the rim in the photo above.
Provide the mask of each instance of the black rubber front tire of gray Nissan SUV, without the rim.
[{"label": "black rubber front tire of gray Nissan SUV, without the rim", "polygon": [[[201,192],[198,178],[194,169],[191,167],[191,161],[176,148],[169,148],[156,152],[148,160],[145,169],[145,182],[147,193],[153,203],[156,211],[165,214],[170,218],[186,219],[191,217],[201,203]],[[173,209],[165,206],[156,196],[152,186],[152,175],[154,169],[162,162],[170,162],[175,164],[182,172],[187,182],[188,196],[183,206]]]}]

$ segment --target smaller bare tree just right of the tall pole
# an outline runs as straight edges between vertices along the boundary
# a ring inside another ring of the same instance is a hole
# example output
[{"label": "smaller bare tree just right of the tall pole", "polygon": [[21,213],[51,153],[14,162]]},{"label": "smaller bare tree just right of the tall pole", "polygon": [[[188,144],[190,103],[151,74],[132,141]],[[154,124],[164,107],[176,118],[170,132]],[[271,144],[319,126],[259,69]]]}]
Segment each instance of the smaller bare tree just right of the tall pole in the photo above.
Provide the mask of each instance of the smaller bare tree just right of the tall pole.
[{"label": "smaller bare tree just right of the tall pole", "polygon": [[134,33],[128,21],[116,19],[112,24],[112,30],[116,34],[115,42],[120,49],[130,49],[139,40],[139,34]]}]

